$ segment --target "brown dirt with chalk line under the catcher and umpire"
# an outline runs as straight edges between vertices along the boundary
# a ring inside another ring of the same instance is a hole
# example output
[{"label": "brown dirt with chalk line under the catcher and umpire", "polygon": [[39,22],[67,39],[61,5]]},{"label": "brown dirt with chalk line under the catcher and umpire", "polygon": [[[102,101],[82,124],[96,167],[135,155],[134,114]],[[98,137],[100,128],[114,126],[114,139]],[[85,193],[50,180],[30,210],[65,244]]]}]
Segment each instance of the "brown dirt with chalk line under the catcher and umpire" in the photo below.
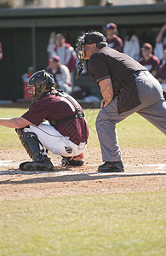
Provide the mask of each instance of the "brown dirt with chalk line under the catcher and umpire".
[{"label": "brown dirt with chalk line under the catcher and umpire", "polygon": [[122,149],[123,173],[97,173],[100,149],[87,148],[84,165],[61,166],[60,156],[49,154],[52,172],[23,172],[26,150],[0,150],[0,200],[63,195],[131,193],[166,190],[166,149]]}]

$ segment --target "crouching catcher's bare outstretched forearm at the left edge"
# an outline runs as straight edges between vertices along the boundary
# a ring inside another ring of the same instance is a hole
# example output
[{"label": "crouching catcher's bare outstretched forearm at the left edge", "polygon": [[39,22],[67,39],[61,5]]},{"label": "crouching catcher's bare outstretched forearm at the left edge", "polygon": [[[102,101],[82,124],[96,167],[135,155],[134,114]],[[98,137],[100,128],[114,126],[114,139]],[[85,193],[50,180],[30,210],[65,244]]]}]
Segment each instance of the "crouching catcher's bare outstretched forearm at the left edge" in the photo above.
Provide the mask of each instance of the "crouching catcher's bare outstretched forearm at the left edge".
[{"label": "crouching catcher's bare outstretched forearm at the left edge", "polygon": [[5,127],[9,127],[9,128],[23,128],[26,127],[26,125],[30,125],[31,122],[24,119],[23,117],[20,118],[0,118],[0,125],[3,125]]}]

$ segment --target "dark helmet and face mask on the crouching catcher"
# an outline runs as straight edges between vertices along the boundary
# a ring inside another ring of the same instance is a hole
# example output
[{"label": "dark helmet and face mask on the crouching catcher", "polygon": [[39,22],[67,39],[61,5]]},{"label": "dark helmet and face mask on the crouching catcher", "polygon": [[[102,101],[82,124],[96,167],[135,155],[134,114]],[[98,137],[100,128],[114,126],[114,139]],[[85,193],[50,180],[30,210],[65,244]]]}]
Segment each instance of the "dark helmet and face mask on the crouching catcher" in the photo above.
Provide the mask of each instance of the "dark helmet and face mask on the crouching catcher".
[{"label": "dark helmet and face mask on the crouching catcher", "polygon": [[45,70],[37,71],[29,79],[27,88],[31,102],[37,102],[44,90],[54,89],[54,77]]}]

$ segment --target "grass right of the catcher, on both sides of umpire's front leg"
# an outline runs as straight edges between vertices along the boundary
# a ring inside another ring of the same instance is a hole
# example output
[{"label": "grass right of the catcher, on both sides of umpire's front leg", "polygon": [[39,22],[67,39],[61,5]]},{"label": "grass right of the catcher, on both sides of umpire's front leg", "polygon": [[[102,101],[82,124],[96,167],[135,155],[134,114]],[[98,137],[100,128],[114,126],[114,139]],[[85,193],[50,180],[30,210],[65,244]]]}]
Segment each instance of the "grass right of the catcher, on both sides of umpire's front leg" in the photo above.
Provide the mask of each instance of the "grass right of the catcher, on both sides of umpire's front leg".
[{"label": "grass right of the catcher, on both sides of umpire's front leg", "polygon": [[[89,124],[89,148],[99,148],[95,119],[99,109],[85,109],[85,117]],[[117,124],[117,136],[122,148],[165,148],[166,137],[157,128],[134,113]]]}]

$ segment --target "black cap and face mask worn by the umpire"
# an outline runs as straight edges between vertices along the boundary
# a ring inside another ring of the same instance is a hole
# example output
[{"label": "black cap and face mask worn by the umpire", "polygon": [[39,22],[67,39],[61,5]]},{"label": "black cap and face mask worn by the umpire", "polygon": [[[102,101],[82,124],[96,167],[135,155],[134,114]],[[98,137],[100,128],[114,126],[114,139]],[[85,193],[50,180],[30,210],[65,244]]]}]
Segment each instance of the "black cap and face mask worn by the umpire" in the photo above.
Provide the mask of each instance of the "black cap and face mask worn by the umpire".
[{"label": "black cap and face mask worn by the umpire", "polygon": [[83,60],[85,58],[86,52],[84,50],[85,44],[97,44],[98,46],[106,46],[106,38],[100,32],[86,32],[83,36],[77,38],[76,41],[76,54],[79,59],[77,64],[77,78],[83,71]]}]

